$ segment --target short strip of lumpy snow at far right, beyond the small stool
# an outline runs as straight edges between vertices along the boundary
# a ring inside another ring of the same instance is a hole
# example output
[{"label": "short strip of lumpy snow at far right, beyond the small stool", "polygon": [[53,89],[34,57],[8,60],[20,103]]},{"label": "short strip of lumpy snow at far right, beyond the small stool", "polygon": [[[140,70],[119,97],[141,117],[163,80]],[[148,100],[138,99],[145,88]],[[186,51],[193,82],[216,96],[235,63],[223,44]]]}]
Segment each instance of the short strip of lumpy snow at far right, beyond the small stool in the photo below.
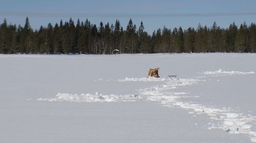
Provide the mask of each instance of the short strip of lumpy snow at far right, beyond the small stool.
[{"label": "short strip of lumpy snow at far right, beyond the small stool", "polygon": [[204,75],[244,75],[244,74],[253,74],[254,72],[240,72],[240,71],[206,71],[203,72]]}]

